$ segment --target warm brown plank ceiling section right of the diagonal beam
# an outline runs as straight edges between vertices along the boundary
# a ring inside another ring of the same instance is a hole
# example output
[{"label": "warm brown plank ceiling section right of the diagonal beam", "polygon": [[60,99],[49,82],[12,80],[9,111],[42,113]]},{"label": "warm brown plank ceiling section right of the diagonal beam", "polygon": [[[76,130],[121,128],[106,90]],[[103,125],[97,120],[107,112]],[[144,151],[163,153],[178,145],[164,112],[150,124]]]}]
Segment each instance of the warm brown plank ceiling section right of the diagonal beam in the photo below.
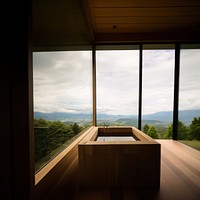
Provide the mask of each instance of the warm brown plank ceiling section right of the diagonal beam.
[{"label": "warm brown plank ceiling section right of the diagonal beam", "polygon": [[199,0],[88,0],[87,3],[97,40],[116,34],[122,40],[127,34],[131,40],[131,34],[134,39],[139,34],[166,37],[166,33],[200,32]]}]

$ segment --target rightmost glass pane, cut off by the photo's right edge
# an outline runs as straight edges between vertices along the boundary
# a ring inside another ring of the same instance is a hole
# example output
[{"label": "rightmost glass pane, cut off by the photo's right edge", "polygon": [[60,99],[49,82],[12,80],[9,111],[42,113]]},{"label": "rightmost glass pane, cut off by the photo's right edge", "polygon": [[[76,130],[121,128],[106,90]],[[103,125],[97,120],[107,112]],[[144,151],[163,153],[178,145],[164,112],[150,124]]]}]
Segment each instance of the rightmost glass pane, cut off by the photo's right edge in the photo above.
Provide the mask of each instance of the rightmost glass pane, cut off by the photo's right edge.
[{"label": "rightmost glass pane, cut off by the photo's right edge", "polygon": [[182,49],[180,55],[178,139],[200,150],[200,49]]}]

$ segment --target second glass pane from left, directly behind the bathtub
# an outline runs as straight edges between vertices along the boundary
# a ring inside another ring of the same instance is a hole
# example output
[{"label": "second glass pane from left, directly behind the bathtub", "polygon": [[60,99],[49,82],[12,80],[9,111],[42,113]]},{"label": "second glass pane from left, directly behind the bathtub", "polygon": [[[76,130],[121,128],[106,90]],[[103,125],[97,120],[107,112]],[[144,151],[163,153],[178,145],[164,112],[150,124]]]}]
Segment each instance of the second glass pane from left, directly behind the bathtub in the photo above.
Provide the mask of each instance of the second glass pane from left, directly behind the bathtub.
[{"label": "second glass pane from left, directly behind the bathtub", "polygon": [[97,124],[137,126],[139,50],[96,54]]}]

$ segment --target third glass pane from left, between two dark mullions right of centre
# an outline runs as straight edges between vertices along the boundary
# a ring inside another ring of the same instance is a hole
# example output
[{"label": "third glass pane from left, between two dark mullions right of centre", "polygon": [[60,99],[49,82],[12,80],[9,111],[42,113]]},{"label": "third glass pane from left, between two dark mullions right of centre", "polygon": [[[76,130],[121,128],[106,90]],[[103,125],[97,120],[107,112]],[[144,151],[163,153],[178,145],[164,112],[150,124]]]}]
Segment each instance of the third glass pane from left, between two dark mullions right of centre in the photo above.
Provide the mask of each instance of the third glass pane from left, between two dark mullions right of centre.
[{"label": "third glass pane from left, between two dark mullions right of centre", "polygon": [[142,129],[152,138],[171,138],[174,56],[173,49],[143,50]]}]

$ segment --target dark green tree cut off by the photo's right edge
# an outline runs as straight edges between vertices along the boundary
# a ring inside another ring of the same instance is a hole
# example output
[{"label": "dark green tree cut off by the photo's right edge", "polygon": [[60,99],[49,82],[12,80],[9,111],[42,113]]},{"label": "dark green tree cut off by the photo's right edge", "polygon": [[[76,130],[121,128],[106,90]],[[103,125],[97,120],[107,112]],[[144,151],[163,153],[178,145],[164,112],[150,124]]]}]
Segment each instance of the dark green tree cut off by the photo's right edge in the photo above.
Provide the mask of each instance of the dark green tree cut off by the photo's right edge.
[{"label": "dark green tree cut off by the photo's right edge", "polygon": [[191,139],[200,140],[200,117],[195,117],[190,124]]}]

